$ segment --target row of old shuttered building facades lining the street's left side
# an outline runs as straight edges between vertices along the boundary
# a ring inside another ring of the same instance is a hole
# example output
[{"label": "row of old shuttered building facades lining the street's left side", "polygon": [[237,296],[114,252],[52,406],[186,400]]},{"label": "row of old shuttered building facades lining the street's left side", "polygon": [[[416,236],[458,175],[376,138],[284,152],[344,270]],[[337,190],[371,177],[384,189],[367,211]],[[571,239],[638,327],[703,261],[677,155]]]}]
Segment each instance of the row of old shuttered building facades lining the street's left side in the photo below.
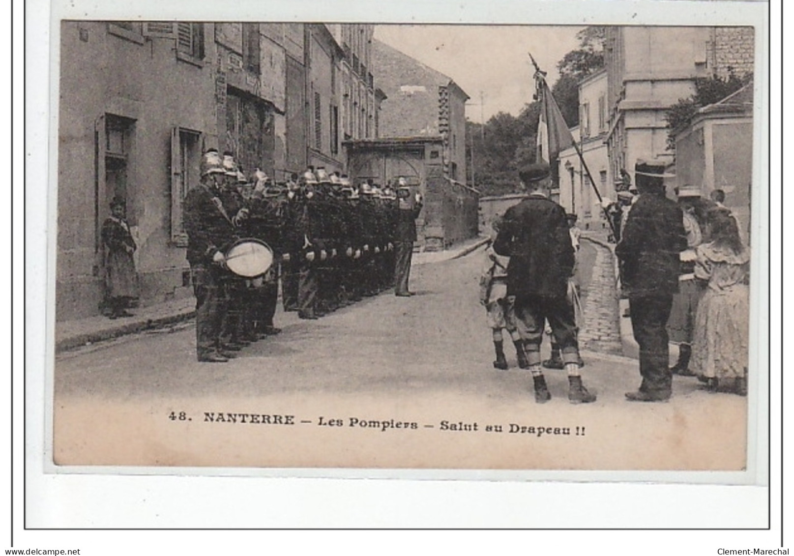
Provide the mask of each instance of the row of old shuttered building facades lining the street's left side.
[{"label": "row of old shuttered building facades lining the street's left side", "polygon": [[[204,150],[276,180],[306,164],[345,170],[339,120],[375,137],[384,98],[345,48],[348,27],[363,37],[357,60],[370,60],[372,25],[61,24],[57,320],[99,312],[99,230],[114,196],[126,202],[145,305],[192,295],[182,203]],[[353,89],[357,114],[345,102]]]}]

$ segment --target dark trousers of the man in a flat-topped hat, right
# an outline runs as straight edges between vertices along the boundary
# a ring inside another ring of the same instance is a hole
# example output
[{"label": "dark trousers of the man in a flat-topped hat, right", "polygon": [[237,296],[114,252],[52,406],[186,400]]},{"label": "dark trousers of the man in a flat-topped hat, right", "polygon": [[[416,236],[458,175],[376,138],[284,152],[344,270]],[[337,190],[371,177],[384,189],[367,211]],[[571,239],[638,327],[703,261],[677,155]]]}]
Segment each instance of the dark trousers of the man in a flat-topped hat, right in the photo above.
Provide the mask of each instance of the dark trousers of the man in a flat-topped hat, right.
[{"label": "dark trousers of the man in a flat-topped hat, right", "polygon": [[666,396],[673,387],[667,334],[672,306],[672,294],[629,296],[631,328],[640,346],[640,392]]}]

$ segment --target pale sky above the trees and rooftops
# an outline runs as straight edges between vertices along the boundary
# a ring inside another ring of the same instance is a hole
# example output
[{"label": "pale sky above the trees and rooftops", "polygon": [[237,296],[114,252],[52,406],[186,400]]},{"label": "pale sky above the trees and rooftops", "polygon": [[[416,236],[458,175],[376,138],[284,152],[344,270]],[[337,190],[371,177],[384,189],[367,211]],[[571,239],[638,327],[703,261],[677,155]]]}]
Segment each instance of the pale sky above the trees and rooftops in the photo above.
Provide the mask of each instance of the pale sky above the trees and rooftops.
[{"label": "pale sky above the trees and rooftops", "polygon": [[[557,63],[578,46],[578,26],[376,25],[375,38],[449,75],[466,91],[466,116],[485,121],[498,112],[518,115],[532,102],[531,52],[549,85]],[[484,102],[480,106],[480,92]]]}]

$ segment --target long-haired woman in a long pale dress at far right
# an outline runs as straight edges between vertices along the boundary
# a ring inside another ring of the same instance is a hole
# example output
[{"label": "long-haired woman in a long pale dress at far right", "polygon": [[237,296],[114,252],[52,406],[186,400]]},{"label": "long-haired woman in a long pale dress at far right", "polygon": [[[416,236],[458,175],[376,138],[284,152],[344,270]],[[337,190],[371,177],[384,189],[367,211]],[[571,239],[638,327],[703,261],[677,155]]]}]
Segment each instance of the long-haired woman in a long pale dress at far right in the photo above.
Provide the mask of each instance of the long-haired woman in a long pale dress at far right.
[{"label": "long-haired woman in a long pale dress at far right", "polygon": [[692,370],[710,392],[747,392],[750,321],[750,249],[742,245],[736,219],[709,210],[711,241],[696,249],[695,275],[708,281],[697,309]]}]

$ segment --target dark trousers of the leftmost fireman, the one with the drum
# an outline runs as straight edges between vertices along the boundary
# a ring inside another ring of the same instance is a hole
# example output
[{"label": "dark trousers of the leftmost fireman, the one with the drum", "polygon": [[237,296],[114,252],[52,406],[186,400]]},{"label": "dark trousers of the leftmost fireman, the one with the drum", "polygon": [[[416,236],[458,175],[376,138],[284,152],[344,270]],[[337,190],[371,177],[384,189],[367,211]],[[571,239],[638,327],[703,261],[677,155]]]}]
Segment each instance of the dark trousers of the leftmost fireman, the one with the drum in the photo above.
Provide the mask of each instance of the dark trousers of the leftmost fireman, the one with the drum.
[{"label": "dark trousers of the leftmost fireman, the one with the drum", "polygon": [[196,297],[196,353],[206,357],[220,348],[220,336],[227,299],[222,280],[224,271],[213,265],[194,264],[191,268]]}]

